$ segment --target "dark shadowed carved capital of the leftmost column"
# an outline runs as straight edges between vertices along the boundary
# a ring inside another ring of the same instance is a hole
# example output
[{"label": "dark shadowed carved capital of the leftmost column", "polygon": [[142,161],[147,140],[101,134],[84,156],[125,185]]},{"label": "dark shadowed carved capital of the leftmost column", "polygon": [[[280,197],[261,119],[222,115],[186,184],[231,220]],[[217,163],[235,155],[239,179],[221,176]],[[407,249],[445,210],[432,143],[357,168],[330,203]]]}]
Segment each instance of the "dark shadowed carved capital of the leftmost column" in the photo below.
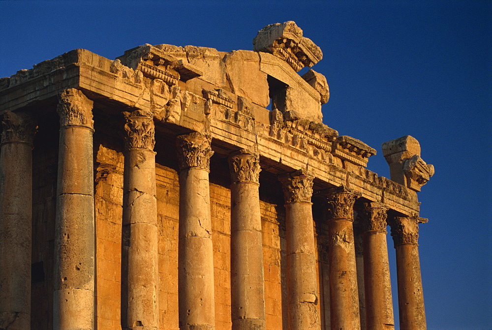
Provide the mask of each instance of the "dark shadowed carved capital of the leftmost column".
[{"label": "dark shadowed carved capital of the leftmost column", "polygon": [[32,146],[36,125],[25,113],[5,111],[1,119],[1,144],[25,143]]}]

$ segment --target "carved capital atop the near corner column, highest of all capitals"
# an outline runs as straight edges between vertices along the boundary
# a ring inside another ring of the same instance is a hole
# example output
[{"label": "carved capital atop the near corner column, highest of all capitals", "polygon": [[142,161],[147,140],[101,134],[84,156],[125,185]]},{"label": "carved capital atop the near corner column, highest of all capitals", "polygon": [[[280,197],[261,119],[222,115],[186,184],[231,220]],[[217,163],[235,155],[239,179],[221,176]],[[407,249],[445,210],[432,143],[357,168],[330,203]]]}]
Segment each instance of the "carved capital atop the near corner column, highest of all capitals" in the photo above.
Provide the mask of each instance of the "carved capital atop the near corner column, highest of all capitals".
[{"label": "carved capital atop the near corner column, highest of all capitals", "polygon": [[59,95],[57,107],[60,126],[83,126],[93,129],[93,103],[81,90],[74,88],[63,90]]}]

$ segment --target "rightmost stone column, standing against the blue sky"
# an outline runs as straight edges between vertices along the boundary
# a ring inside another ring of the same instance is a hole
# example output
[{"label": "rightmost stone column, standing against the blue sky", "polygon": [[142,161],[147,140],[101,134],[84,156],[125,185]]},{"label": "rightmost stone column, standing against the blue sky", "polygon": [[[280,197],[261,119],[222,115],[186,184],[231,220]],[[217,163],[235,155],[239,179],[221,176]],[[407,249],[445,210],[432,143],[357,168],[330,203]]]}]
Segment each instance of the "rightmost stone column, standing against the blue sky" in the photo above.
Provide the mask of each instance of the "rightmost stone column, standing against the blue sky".
[{"label": "rightmost stone column, standing against the blue sky", "polygon": [[390,221],[395,243],[400,330],[425,330],[426,313],[422,293],[417,217],[395,217]]}]

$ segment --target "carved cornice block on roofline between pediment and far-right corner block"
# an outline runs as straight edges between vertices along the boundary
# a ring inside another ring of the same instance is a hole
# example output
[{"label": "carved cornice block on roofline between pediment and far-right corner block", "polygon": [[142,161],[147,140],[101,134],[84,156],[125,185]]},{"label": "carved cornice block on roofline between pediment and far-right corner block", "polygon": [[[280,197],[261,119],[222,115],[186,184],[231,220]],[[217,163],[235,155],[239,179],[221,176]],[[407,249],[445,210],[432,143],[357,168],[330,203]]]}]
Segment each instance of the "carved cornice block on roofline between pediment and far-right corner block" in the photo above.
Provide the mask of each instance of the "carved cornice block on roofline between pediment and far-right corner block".
[{"label": "carved cornice block on roofline between pediment and far-right corner block", "polygon": [[345,135],[339,136],[332,148],[332,153],[337,157],[364,167],[367,166],[369,157],[376,154],[376,150],[364,142]]}]

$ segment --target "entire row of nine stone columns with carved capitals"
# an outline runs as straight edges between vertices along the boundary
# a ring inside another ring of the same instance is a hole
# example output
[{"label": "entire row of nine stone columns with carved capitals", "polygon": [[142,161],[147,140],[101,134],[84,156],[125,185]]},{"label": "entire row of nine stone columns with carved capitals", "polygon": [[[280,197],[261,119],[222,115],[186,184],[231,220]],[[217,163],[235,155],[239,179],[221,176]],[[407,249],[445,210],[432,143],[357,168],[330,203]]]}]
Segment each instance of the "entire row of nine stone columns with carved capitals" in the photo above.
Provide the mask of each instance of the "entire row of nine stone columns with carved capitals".
[{"label": "entire row of nine stone columns with carved capitals", "polygon": [[[60,95],[54,329],[93,329],[94,196],[92,101],[80,90]],[[123,184],[122,326],[157,330],[158,228],[152,112],[125,117]],[[30,325],[32,136],[24,115],[6,112],[0,157],[0,326]],[[12,128],[13,127],[13,128]],[[21,127],[21,128],[19,128]],[[12,134],[12,130],[16,132]],[[179,326],[215,329],[214,268],[209,171],[211,138],[194,132],[177,138],[180,164]],[[239,150],[231,171],[231,317],[233,330],[265,329],[265,302],[258,155]],[[289,329],[319,329],[315,240],[311,210],[313,176],[307,171],[279,177],[286,208],[287,314]],[[330,191],[328,219],[332,329],[392,329],[393,311],[386,248],[386,209],[368,203],[364,218],[364,282],[358,291],[354,203],[347,189]],[[400,327],[425,329],[415,218],[392,220],[397,252]],[[7,260],[7,259],[5,259]],[[20,274],[20,275],[19,275]],[[359,278],[360,281],[360,278]],[[361,318],[359,298],[365,297]]]}]

